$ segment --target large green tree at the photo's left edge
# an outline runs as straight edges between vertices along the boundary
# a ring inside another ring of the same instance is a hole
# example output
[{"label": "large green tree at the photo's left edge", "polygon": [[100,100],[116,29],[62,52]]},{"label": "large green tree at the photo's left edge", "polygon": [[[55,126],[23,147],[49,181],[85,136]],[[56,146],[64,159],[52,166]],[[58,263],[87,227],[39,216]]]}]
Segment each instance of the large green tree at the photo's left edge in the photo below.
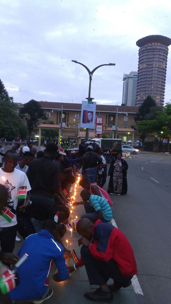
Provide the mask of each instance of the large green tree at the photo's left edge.
[{"label": "large green tree at the photo's left edge", "polygon": [[5,94],[0,95],[0,138],[13,140],[19,136],[21,122],[17,115],[18,107],[14,104],[13,98]]}]

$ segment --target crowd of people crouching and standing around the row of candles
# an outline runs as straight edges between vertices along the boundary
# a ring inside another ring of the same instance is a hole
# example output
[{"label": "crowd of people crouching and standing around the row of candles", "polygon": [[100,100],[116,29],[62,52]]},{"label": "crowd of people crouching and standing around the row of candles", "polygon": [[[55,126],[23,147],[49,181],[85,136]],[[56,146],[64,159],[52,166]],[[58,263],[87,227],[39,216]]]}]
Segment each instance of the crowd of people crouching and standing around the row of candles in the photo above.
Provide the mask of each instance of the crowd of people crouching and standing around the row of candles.
[{"label": "crowd of people crouching and standing around the row of candles", "polygon": [[[19,145],[19,144],[18,144]],[[8,296],[15,300],[42,303],[51,297],[50,281],[61,282],[78,267],[85,265],[90,284],[99,285],[95,292],[86,292],[92,301],[111,301],[113,292],[131,284],[136,274],[136,262],[131,245],[124,234],[112,226],[112,200],[110,195],[127,193],[127,162],[118,153],[107,173],[106,156],[116,145],[103,153],[96,143],[82,142],[78,157],[70,150],[58,149],[54,143],[46,144],[44,151],[29,147],[16,147],[0,151],[0,243],[1,261],[11,267],[24,254],[28,258],[18,268],[19,285]],[[18,149],[18,150],[17,150]],[[82,169],[82,170],[80,170]],[[82,174],[79,185],[83,188],[85,213],[77,223],[81,235],[81,258],[72,267],[71,251],[65,247],[65,235],[70,215],[69,189]],[[103,189],[110,175],[108,192]],[[8,220],[7,220],[8,218]],[[13,254],[17,231],[23,245]],[[58,273],[54,272],[58,268]],[[109,278],[114,283],[107,285]]]}]

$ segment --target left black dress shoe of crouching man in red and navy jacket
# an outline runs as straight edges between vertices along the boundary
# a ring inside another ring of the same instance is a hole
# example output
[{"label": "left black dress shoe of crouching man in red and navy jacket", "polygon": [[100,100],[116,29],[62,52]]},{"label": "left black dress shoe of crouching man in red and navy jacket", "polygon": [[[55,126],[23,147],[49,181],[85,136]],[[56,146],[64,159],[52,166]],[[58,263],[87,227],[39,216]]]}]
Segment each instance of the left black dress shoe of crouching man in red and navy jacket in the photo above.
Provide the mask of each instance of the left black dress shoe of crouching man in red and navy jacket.
[{"label": "left black dress shoe of crouching man in red and navy jacket", "polygon": [[94,302],[112,302],[113,293],[111,290],[108,292],[103,291],[101,288],[96,289],[93,292],[85,292],[84,297]]}]

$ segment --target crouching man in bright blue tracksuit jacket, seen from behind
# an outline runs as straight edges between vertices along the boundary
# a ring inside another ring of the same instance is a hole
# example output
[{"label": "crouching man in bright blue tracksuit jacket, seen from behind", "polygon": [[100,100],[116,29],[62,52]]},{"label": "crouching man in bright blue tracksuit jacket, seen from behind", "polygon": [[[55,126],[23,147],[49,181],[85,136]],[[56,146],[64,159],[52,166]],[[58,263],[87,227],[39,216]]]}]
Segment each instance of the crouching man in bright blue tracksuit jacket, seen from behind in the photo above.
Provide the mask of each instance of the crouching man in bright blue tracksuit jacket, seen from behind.
[{"label": "crouching man in bright blue tracksuit jacket, seen from behind", "polygon": [[28,254],[28,258],[18,268],[19,285],[8,293],[12,300],[32,300],[39,304],[49,299],[53,294],[49,285],[55,265],[59,281],[68,278],[64,248],[54,240],[55,230],[55,222],[48,219],[40,232],[30,235],[24,241],[18,256]]}]

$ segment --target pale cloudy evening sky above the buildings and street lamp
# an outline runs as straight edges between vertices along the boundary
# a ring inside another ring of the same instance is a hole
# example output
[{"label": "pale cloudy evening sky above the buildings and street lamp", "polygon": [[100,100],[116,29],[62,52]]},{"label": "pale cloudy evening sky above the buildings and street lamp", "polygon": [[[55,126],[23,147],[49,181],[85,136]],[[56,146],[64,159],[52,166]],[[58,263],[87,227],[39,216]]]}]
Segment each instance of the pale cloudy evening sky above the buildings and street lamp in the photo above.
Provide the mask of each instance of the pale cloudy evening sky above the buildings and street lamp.
[{"label": "pale cloudy evening sky above the buildings and street lamp", "polygon": [[[123,74],[137,71],[141,37],[171,38],[171,2],[159,0],[0,0],[0,79],[14,102],[30,99],[120,105]],[[171,99],[169,47],[165,102]]]}]

